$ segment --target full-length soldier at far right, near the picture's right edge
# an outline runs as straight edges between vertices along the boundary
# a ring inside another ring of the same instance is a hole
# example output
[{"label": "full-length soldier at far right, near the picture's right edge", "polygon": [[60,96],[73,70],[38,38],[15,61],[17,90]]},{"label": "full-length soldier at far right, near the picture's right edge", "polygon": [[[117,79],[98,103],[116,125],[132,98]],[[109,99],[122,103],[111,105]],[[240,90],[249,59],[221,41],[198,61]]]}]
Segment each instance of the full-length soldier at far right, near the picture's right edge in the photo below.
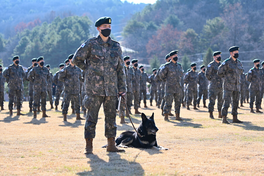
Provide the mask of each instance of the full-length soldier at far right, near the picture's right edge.
[{"label": "full-length soldier at far right, near the picture's right edge", "polygon": [[254,104],[255,100],[256,100],[256,102],[255,102],[256,112],[262,113],[259,110],[259,107],[260,107],[260,99],[262,98],[260,96],[261,96],[263,75],[262,75],[262,70],[259,69],[259,66],[260,66],[259,61],[260,61],[260,59],[253,60],[254,67],[251,68],[247,74],[247,81],[250,82],[250,85],[249,85],[249,96],[250,96],[249,107],[250,107],[251,113],[255,113],[253,110],[253,104]]}]

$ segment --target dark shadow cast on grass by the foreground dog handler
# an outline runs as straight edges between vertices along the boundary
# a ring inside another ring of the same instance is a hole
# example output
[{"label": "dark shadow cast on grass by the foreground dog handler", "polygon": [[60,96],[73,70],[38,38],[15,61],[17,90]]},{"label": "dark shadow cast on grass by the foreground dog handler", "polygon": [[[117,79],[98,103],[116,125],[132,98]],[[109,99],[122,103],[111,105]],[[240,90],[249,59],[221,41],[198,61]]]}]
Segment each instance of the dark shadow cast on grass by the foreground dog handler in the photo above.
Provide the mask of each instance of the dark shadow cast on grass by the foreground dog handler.
[{"label": "dark shadow cast on grass by the foreground dog handler", "polygon": [[[119,153],[107,153],[109,161],[99,158],[97,155],[88,154],[86,158],[91,170],[78,172],[77,175],[138,175],[143,176],[144,170],[140,163],[136,162],[136,158],[140,152],[135,156],[133,161],[128,161],[121,158]],[[132,168],[131,168],[132,167]],[[131,169],[130,169],[131,168]],[[131,170],[133,172],[131,172]]]}]

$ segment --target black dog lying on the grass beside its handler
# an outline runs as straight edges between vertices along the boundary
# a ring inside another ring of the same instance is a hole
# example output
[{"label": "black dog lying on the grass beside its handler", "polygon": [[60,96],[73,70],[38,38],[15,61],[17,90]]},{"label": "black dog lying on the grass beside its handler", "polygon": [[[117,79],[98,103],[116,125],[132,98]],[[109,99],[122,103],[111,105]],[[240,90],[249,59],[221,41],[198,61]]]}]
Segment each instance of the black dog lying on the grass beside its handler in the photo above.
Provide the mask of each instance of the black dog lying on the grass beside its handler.
[{"label": "black dog lying on the grass beside its handler", "polygon": [[[151,148],[154,150],[168,150],[157,144],[156,133],[159,130],[154,122],[154,113],[148,119],[144,113],[141,114],[142,122],[137,128],[138,134],[134,131],[125,131],[116,138],[118,147],[136,147],[136,148]],[[106,147],[103,146],[103,147]]]}]

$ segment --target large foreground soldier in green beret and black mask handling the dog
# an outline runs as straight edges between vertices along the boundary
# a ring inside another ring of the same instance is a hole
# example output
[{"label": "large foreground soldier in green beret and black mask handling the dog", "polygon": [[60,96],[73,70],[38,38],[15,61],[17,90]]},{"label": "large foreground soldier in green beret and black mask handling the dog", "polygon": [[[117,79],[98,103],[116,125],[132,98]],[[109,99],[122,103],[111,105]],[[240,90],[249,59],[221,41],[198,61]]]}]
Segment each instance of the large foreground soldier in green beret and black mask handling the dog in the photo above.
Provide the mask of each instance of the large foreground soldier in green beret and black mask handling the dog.
[{"label": "large foreground soldier in green beret and black mask handling the dog", "polygon": [[86,141],[84,154],[93,151],[92,141],[95,138],[95,127],[101,104],[104,109],[105,137],[108,143],[106,151],[125,152],[117,148],[115,143],[117,95],[125,96],[126,94],[123,54],[120,44],[109,37],[110,17],[99,18],[95,27],[99,35],[83,43],[76,50],[72,60],[73,64],[85,71],[86,95],[83,103],[87,108],[87,116],[84,126]]}]

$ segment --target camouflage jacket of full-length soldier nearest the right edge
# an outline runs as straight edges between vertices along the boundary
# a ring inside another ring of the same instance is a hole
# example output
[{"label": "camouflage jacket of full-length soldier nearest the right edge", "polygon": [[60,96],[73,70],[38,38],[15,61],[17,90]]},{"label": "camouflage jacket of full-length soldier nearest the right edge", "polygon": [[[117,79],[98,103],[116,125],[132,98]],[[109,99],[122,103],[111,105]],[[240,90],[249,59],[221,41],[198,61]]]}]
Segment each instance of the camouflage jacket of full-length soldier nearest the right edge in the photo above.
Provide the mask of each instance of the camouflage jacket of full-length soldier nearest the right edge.
[{"label": "camouflage jacket of full-length soldier nearest the right edge", "polygon": [[261,91],[263,75],[260,69],[256,69],[255,67],[251,68],[248,71],[247,80],[251,82],[249,90]]}]

